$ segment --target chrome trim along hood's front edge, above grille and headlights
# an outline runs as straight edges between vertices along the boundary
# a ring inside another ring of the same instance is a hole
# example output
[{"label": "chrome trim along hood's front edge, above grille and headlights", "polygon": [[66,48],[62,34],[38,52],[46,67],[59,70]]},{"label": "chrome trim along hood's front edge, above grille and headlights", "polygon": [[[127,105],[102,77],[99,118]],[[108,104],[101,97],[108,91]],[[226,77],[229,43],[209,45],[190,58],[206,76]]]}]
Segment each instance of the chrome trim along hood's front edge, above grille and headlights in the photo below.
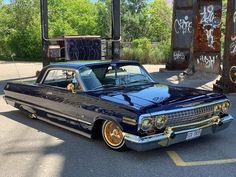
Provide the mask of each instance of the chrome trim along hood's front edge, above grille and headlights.
[{"label": "chrome trim along hood's front edge, above grille and headlights", "polygon": [[201,107],[205,107],[205,106],[212,106],[215,104],[219,104],[219,103],[223,103],[225,101],[229,101],[228,99],[223,99],[223,100],[218,100],[218,101],[214,101],[211,103],[205,103],[205,104],[200,104],[197,106],[190,106],[187,108],[180,108],[180,109],[173,109],[173,110],[168,110],[168,111],[158,111],[158,112],[153,112],[153,113],[148,113],[148,114],[142,114],[139,116],[139,120],[138,120],[138,130],[141,129],[141,122],[142,119],[145,117],[152,117],[152,116],[157,116],[157,115],[165,115],[165,114],[170,114],[170,113],[175,113],[175,112],[181,112],[181,111],[188,111],[188,110],[192,110],[192,109],[197,109],[197,108],[201,108]]}]

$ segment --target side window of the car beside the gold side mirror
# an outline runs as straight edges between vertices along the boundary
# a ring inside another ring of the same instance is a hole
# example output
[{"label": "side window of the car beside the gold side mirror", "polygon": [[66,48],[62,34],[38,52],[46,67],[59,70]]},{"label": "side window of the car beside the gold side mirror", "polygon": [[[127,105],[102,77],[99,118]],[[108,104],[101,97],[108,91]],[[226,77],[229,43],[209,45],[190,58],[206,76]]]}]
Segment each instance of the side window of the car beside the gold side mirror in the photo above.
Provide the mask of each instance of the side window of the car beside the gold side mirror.
[{"label": "side window of the car beside the gold side mirror", "polygon": [[61,88],[67,88],[69,84],[79,85],[75,71],[63,69],[50,70],[43,84]]}]

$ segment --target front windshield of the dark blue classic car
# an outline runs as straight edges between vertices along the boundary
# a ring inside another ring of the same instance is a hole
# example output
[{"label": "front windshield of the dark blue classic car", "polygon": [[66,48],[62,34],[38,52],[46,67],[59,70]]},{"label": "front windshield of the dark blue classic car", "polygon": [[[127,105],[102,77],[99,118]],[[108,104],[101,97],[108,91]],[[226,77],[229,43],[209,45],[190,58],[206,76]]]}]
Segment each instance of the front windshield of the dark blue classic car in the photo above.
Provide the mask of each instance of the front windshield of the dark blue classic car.
[{"label": "front windshield of the dark blue classic car", "polygon": [[84,66],[79,73],[86,90],[153,83],[147,71],[138,64]]}]

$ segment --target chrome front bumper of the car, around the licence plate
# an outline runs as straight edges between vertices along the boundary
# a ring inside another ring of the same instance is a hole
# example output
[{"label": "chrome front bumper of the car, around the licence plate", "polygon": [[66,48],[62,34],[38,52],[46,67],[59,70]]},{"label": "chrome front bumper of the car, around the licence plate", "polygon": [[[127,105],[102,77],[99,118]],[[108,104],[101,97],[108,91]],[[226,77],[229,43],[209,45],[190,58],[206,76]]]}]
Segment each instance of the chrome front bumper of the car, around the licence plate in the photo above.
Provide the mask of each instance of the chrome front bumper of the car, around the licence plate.
[{"label": "chrome front bumper of the car, around the licence plate", "polygon": [[[223,118],[212,117],[203,122],[198,122],[189,125],[167,128],[164,133],[154,134],[150,136],[140,137],[125,133],[125,144],[128,148],[136,151],[147,151],[158,147],[165,147],[186,140],[189,132],[201,129],[201,135],[216,133],[226,129],[233,121],[231,115]],[[194,128],[193,128],[194,127]]]}]

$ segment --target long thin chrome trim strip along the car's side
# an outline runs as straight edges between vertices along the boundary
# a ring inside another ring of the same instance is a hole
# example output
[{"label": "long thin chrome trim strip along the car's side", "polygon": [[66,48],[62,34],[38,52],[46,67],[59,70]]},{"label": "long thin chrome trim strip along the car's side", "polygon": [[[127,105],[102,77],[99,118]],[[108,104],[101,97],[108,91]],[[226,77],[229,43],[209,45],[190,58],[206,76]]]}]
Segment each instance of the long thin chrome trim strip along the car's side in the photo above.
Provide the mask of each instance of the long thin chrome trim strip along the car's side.
[{"label": "long thin chrome trim strip along the car's side", "polygon": [[58,112],[55,112],[55,111],[51,111],[51,110],[48,110],[48,109],[45,109],[45,108],[42,108],[42,107],[39,107],[39,106],[36,106],[36,105],[26,103],[26,102],[22,102],[22,101],[19,101],[19,100],[10,98],[10,97],[6,97],[6,100],[13,101],[13,102],[16,102],[16,103],[19,103],[19,104],[25,104],[26,106],[33,107],[33,108],[39,109],[41,111],[45,111],[45,112],[55,114],[55,115],[58,115],[58,116],[61,116],[61,117],[72,119],[72,120],[75,120],[75,121],[78,121],[78,122],[81,122],[81,123],[84,123],[84,124],[87,124],[87,125],[92,125],[92,123],[90,123],[90,122],[87,122],[87,121],[84,121],[84,120],[81,120],[81,119],[77,119],[75,117],[71,117],[71,116],[68,116],[68,115],[65,115],[65,114],[62,114],[62,113],[58,113]]}]

